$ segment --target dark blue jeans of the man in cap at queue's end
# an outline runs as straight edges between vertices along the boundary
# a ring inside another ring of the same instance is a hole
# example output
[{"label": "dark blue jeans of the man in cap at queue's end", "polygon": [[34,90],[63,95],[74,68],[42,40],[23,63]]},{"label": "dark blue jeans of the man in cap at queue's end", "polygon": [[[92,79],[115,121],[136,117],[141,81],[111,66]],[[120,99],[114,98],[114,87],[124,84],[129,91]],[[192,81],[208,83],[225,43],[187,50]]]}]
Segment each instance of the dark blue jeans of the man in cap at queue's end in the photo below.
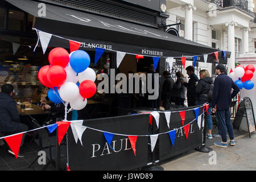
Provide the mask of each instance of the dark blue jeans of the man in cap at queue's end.
[{"label": "dark blue jeans of the man in cap at queue's end", "polygon": [[225,110],[217,110],[216,111],[218,118],[218,129],[220,130],[222,142],[226,142],[227,137],[226,133],[228,131],[230,140],[234,139],[234,130],[233,125],[230,120],[230,112],[229,108]]}]

